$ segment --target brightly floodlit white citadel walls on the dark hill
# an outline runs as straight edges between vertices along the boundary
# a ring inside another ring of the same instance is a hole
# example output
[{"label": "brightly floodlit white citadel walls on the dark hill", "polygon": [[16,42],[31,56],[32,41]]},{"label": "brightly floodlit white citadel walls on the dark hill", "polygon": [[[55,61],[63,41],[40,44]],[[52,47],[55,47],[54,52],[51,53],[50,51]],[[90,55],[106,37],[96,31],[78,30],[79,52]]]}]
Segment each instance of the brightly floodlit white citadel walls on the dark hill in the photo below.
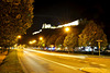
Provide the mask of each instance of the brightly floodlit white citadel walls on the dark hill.
[{"label": "brightly floodlit white citadel walls on the dark hill", "polygon": [[[62,27],[66,27],[66,26],[77,26],[79,24],[79,20],[77,21],[74,21],[74,22],[70,22],[70,23],[67,23],[67,24],[64,24],[64,25],[58,25],[58,26],[52,26],[51,24],[43,24],[42,26],[42,29],[43,28],[52,28],[52,29],[55,29],[55,28],[62,28]],[[42,29],[40,29],[38,32],[34,32],[32,33],[32,35],[35,35],[35,34],[38,34],[42,32]]]}]

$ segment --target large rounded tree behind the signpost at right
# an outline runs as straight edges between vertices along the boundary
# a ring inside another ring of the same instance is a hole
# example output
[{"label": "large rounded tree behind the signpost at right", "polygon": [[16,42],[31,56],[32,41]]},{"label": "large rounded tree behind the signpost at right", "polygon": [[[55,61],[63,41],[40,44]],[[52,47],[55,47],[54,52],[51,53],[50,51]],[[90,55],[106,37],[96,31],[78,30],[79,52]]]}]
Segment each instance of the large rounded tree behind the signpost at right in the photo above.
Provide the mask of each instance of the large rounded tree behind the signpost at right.
[{"label": "large rounded tree behind the signpost at right", "polygon": [[79,35],[79,46],[97,46],[98,39],[102,40],[102,47],[108,45],[107,35],[101,26],[97,25],[94,21],[89,21],[82,33]]}]

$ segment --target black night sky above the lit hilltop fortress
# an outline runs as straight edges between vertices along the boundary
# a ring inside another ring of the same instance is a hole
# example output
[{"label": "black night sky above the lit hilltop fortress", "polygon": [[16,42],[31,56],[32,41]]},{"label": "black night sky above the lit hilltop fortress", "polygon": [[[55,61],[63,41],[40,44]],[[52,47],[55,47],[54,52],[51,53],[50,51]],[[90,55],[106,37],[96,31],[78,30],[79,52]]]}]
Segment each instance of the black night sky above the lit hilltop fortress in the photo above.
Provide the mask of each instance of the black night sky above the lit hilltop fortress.
[{"label": "black night sky above the lit hilltop fortress", "polygon": [[110,36],[109,1],[102,0],[35,0],[33,25],[28,34],[38,31],[43,23],[61,25],[79,19],[95,20],[105,25]]}]

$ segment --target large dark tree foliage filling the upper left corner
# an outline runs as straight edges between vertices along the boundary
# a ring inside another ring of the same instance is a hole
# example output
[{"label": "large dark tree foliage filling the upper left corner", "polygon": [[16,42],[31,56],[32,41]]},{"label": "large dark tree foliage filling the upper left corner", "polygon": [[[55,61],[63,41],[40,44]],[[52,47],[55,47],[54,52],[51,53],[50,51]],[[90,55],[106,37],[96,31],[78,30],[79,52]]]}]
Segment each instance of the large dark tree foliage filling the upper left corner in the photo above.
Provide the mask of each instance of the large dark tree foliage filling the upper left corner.
[{"label": "large dark tree foliage filling the upper left corner", "polygon": [[0,1],[0,46],[12,46],[33,21],[33,0]]}]

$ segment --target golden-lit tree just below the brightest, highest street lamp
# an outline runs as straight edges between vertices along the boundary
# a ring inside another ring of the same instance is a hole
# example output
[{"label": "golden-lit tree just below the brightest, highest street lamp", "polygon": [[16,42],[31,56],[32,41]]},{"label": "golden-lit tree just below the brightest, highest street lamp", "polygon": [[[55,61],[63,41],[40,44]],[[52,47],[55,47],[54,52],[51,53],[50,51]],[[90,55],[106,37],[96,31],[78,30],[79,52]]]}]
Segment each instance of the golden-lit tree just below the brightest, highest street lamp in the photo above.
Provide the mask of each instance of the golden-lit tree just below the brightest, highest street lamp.
[{"label": "golden-lit tree just below the brightest, highest street lamp", "polygon": [[78,46],[78,35],[80,33],[78,26],[72,26],[69,28],[70,31],[67,33],[63,44],[64,47],[68,47],[68,51],[74,50],[74,48]]}]

